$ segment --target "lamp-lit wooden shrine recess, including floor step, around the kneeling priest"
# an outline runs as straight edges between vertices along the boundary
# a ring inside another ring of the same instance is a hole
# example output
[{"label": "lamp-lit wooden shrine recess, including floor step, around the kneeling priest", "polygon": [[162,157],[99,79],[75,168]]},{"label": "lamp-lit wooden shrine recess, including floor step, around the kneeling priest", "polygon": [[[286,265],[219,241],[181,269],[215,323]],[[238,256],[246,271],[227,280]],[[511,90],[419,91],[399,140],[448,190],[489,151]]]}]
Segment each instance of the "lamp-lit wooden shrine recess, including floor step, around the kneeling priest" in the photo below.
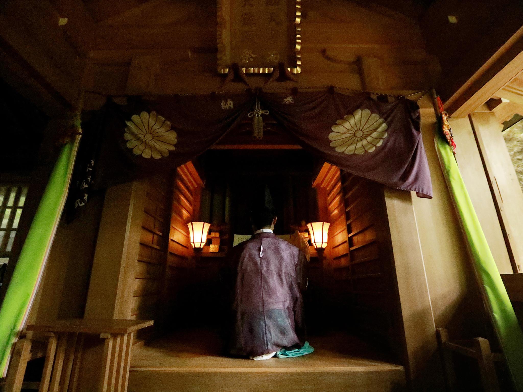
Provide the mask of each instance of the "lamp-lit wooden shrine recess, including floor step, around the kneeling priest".
[{"label": "lamp-lit wooden shrine recess, including floor step, around the kneeling priest", "polygon": [[[293,361],[294,370],[288,368],[290,362],[275,360],[258,373],[257,361],[232,359],[224,350],[229,304],[220,270],[234,234],[249,230],[242,201],[251,187],[249,178],[270,185],[282,218],[277,235],[292,233],[302,221],[331,223],[323,257],[311,249],[308,264],[305,311],[316,352]],[[143,343],[134,349],[130,390],[163,391],[175,385],[188,391],[228,390],[233,379],[251,390],[263,379],[275,381],[310,366],[315,371],[304,377],[320,388],[316,390],[404,386],[403,348],[396,343],[402,341],[399,299],[382,186],[342,173],[302,149],[267,148],[208,151],[177,168],[171,181],[170,187],[157,177],[147,184],[133,295],[137,313],[132,317],[154,317],[156,330],[142,336]],[[170,223],[162,225],[158,218],[169,215],[169,205]],[[211,232],[219,233],[218,252],[206,246],[195,255],[187,233],[191,220],[212,224]],[[163,232],[153,227],[167,226],[165,244]],[[167,252],[163,276],[161,263],[152,256],[162,249]],[[161,287],[155,304],[154,287]]]}]

